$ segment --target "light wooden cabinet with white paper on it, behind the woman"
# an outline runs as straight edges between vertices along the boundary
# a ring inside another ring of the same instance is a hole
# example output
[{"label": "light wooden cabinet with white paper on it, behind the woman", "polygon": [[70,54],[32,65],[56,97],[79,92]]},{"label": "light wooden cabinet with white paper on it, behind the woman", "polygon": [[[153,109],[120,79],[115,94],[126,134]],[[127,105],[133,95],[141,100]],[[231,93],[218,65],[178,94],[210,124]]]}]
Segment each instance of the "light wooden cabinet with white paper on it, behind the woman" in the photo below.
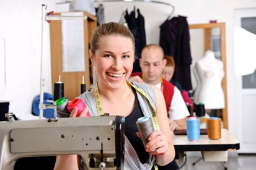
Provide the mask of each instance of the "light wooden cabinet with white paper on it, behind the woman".
[{"label": "light wooden cabinet with white paper on it, behind the woman", "polygon": [[[54,84],[58,82],[60,75],[61,82],[64,83],[64,96],[68,100],[73,100],[81,94],[80,85],[83,76],[84,82],[86,83],[86,90],[90,87],[89,43],[90,37],[97,27],[97,19],[88,12],[83,12],[83,14],[87,15],[87,19],[84,20],[84,64],[86,68],[84,72],[63,72],[61,20],[52,20],[50,23],[52,89],[54,90]],[[60,13],[54,15],[60,15]]]}]

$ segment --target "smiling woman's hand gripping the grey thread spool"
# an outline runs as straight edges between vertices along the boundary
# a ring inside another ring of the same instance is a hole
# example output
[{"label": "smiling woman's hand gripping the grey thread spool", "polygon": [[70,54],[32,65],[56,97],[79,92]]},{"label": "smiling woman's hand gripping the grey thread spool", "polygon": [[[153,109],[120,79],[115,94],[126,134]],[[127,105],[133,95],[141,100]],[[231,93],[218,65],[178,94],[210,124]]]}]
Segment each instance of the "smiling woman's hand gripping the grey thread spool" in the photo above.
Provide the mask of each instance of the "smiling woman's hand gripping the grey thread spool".
[{"label": "smiling woman's hand gripping the grey thread spool", "polygon": [[[139,138],[141,135],[137,132]],[[149,142],[146,144],[146,151],[151,155],[157,155],[159,157],[163,157],[167,155],[168,151],[168,141],[166,135],[164,135],[159,130],[154,130],[148,138]]]}]

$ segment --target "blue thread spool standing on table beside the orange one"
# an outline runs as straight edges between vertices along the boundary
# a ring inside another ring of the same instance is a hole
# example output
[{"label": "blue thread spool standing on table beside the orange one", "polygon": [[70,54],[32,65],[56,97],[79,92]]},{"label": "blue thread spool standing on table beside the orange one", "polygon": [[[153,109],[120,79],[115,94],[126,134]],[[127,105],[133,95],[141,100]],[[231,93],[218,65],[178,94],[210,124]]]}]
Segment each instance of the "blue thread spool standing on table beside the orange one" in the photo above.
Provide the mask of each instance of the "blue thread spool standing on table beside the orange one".
[{"label": "blue thread spool standing on table beside the orange one", "polygon": [[186,120],[188,140],[198,140],[200,138],[200,121],[196,117],[189,117]]}]

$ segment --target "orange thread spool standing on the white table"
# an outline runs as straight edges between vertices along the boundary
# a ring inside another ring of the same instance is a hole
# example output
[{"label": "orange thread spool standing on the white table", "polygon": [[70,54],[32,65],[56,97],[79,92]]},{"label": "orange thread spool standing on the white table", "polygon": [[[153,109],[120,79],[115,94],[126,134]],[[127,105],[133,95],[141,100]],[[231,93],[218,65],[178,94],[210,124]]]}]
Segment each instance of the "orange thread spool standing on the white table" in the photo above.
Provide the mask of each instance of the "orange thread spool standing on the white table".
[{"label": "orange thread spool standing on the white table", "polygon": [[208,131],[208,138],[210,139],[221,138],[221,118],[210,117],[210,119],[207,120],[207,131]]}]

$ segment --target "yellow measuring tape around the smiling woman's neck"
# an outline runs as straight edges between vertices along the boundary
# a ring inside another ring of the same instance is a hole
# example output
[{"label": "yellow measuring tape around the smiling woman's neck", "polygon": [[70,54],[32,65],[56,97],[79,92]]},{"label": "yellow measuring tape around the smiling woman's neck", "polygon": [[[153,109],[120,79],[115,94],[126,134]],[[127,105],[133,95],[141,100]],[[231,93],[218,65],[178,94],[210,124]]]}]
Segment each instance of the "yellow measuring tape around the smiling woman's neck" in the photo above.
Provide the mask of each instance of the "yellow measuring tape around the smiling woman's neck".
[{"label": "yellow measuring tape around the smiling woman's neck", "polygon": [[[130,83],[130,82],[128,82],[128,83]],[[155,127],[156,130],[160,130],[160,127],[159,127],[159,124],[158,124],[158,121],[157,121],[157,117],[156,117],[156,111],[153,108],[152,104],[150,103],[148,95],[145,93],[145,91],[143,91],[140,88],[133,85],[133,83],[130,83],[130,85],[133,88],[135,88],[136,91],[141,93],[141,95],[143,95],[147,99],[148,104],[149,104],[149,108],[151,109],[151,112],[152,112],[154,127]],[[102,116],[102,115],[104,115],[104,111],[103,111],[103,108],[102,108],[102,104],[100,102],[100,93],[99,93],[99,89],[98,89],[98,83],[96,83],[96,85],[95,85],[95,92],[94,93],[95,93],[95,102],[96,102],[96,107],[97,107],[98,114],[100,116]],[[155,168],[155,170],[158,170],[158,167],[157,167],[156,163],[154,163],[154,168]]]}]

